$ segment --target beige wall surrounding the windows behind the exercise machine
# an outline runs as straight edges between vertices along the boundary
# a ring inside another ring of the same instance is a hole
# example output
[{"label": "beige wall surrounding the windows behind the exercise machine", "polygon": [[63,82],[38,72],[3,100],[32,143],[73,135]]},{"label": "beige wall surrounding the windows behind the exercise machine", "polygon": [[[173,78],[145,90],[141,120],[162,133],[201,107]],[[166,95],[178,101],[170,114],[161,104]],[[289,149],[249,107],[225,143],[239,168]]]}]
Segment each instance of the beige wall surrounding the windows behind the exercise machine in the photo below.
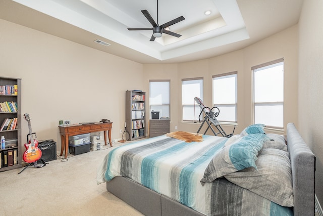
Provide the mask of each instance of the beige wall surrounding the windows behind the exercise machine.
[{"label": "beige wall surrounding the windows behind the exercise machine", "polygon": [[[298,123],[297,119],[297,71],[298,71],[298,27],[297,25],[288,28],[280,33],[257,42],[245,49],[231,52],[225,55],[210,59],[172,64],[172,70],[165,72],[168,64],[144,65],[144,83],[148,85],[149,79],[169,78],[176,83],[171,88],[171,131],[197,132],[200,124],[184,123],[181,121],[181,79],[192,77],[203,77],[204,95],[203,102],[206,106],[212,107],[212,75],[238,71],[238,127],[235,134],[252,124],[252,72],[251,67],[265,62],[284,58],[284,127],[288,122]],[[163,73],[163,74],[160,74]],[[171,74],[171,76],[170,76]],[[273,83],[275,86],[275,83]],[[174,89],[176,88],[176,89]],[[148,98],[148,97],[147,97]],[[193,100],[193,99],[192,99]],[[173,104],[178,106],[173,106]],[[230,134],[232,125],[223,125],[223,128]],[[204,133],[206,127],[202,129]],[[210,131],[209,131],[210,132]],[[285,131],[269,131],[284,134]]]}]

